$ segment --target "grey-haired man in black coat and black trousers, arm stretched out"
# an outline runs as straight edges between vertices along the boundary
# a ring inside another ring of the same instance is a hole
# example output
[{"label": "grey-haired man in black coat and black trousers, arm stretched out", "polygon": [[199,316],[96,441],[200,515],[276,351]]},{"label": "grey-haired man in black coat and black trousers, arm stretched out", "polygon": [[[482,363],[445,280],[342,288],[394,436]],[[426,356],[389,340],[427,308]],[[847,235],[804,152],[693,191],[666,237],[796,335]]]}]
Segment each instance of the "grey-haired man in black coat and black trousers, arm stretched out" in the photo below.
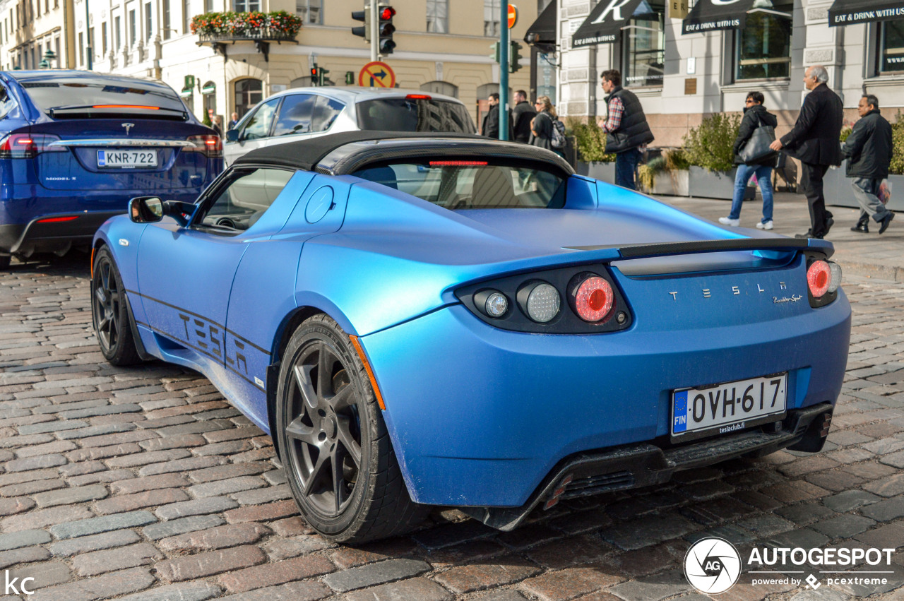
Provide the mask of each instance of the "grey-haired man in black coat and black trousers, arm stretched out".
[{"label": "grey-haired man in black coat and black trousers, arm stretched out", "polygon": [[773,150],[785,149],[801,163],[801,187],[810,209],[810,230],[796,238],[823,238],[835,222],[825,210],[823,177],[829,165],[842,164],[838,136],[844,119],[842,99],[826,82],[829,72],[812,65],[804,72],[804,86],[810,90],[800,108],[794,128],[772,143]]}]

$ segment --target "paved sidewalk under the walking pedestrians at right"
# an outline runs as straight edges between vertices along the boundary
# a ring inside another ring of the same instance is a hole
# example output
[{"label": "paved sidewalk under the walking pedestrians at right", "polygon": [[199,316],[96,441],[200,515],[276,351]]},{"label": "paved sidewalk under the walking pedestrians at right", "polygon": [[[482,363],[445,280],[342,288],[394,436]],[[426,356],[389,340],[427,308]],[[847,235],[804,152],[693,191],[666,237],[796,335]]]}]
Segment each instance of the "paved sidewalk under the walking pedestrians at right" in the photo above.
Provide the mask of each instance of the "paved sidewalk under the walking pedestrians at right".
[{"label": "paved sidewalk under the walking pedestrians at right", "polygon": [[[730,201],[682,196],[656,198],[716,223],[720,217],[726,217],[731,208]],[[745,202],[740,214],[741,228],[756,228],[763,215],[762,207],[759,194],[756,201]],[[842,266],[845,273],[904,282],[904,214],[897,214],[889,229],[880,236],[879,224],[874,221],[870,221],[868,234],[851,231],[851,226],[860,217],[859,209],[828,207],[828,210],[832,211],[835,224],[825,239],[835,245],[833,260]],[[805,196],[776,193],[773,221],[773,231],[785,236],[794,236],[808,230],[810,213],[807,211]]]}]

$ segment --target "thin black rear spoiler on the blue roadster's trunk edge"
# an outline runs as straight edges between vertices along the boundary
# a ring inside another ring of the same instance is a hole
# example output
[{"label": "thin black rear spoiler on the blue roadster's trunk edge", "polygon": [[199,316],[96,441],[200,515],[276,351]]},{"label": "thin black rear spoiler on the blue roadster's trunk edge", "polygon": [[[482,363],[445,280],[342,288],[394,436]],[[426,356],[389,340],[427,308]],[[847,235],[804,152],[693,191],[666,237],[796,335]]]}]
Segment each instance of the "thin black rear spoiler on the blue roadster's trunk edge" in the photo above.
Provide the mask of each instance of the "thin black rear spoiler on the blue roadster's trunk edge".
[{"label": "thin black rear spoiler on the blue roadster's trunk edge", "polygon": [[834,247],[822,239],[796,238],[736,238],[719,240],[691,240],[687,242],[655,242],[653,244],[629,244],[626,246],[572,246],[566,250],[615,251],[618,258],[661,257],[664,255],[688,255],[701,252],[722,252],[729,250],[813,250],[831,257]]}]

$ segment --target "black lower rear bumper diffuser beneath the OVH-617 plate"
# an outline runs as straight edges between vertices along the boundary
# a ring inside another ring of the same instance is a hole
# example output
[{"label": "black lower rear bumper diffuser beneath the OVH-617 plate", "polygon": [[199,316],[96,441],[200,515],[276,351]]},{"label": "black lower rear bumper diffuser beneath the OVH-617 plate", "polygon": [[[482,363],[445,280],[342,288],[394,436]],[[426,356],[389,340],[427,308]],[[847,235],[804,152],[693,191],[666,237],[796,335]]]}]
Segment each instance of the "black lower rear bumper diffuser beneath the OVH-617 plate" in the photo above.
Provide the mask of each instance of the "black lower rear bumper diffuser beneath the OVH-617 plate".
[{"label": "black lower rear bumper diffuser beneath the OVH-617 plate", "polygon": [[819,451],[828,434],[832,412],[832,404],[820,403],[790,411],[776,431],[767,431],[767,427],[757,428],[669,449],[638,443],[570,455],[553,468],[521,507],[461,509],[488,526],[510,531],[538,506],[550,509],[560,500],[663,484],[675,472],[712,465],[741,455],[768,455],[788,446]]}]

